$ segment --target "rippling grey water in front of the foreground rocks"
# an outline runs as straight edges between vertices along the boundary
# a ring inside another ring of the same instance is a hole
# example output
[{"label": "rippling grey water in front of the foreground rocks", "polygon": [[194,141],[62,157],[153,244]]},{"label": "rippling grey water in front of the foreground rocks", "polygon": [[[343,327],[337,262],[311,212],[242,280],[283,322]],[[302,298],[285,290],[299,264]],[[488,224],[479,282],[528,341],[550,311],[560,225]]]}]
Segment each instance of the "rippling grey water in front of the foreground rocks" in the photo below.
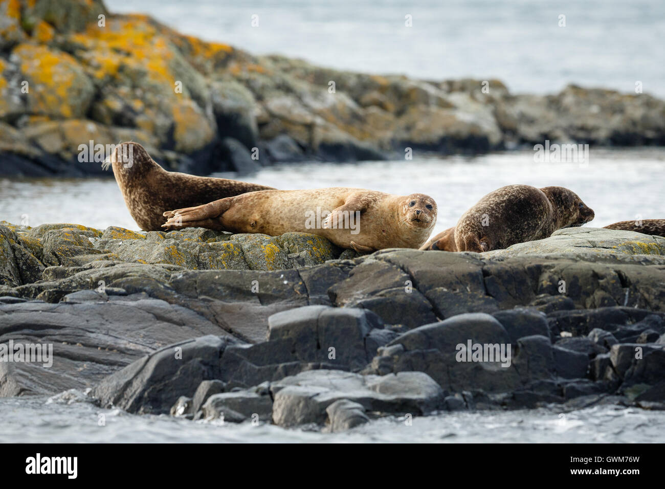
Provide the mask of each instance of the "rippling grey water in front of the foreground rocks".
[{"label": "rippling grey water in front of the foreground rocks", "polygon": [[[103,416],[100,416],[102,415]],[[100,420],[103,424],[100,425]],[[665,411],[599,406],[562,413],[557,408],[444,412],[388,416],[341,433],[279,428],[249,422],[190,421],[138,416],[91,403],[47,397],[0,398],[0,443],[663,443]]]}]

